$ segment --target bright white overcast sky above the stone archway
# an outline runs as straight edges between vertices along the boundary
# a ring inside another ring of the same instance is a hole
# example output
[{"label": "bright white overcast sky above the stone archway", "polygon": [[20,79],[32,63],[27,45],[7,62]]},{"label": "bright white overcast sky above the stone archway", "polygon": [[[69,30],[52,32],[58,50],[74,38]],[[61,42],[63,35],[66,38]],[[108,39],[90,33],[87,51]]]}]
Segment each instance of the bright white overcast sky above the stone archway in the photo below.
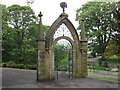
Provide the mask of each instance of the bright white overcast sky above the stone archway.
[{"label": "bright white overcast sky above the stone archway", "polygon": [[[82,4],[85,4],[90,0],[34,0],[31,8],[34,10],[36,16],[41,11],[43,14],[42,21],[43,25],[52,25],[52,23],[59,17],[62,13],[62,8],[60,7],[61,2],[67,3],[67,8],[65,12],[69,15],[70,21],[73,23],[75,28],[78,27],[78,22],[75,21],[76,9],[80,8]],[[0,3],[11,6],[13,4],[19,4],[21,6],[27,5],[27,0],[0,0]]]}]

